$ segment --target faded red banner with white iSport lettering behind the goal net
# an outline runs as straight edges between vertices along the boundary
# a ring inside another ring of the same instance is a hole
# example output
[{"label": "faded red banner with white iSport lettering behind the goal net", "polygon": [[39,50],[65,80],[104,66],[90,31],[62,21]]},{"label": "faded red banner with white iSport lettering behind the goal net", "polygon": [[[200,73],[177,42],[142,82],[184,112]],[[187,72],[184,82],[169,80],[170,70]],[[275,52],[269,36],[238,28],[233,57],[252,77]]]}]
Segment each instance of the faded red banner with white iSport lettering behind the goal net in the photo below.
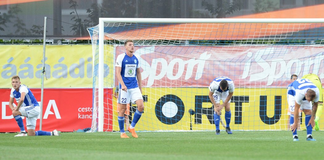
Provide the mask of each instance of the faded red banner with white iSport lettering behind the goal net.
[{"label": "faded red banner with white iSport lettering behind the goal net", "polygon": [[[125,52],[116,47],[116,57]],[[145,87],[208,87],[227,76],[239,87],[287,87],[292,74],[324,81],[323,46],[136,46]],[[117,85],[117,81],[116,81]]]}]

